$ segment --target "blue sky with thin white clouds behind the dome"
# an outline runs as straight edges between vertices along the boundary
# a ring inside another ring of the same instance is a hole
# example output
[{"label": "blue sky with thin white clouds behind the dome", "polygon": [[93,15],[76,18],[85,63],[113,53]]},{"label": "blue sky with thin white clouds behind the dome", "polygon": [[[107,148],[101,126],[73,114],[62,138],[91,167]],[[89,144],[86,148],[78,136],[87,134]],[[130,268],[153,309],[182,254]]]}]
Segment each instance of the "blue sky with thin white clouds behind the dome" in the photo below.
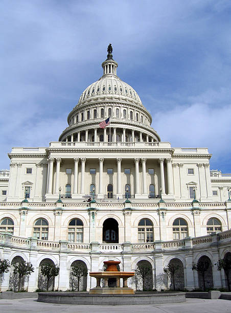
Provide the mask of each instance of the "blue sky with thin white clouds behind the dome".
[{"label": "blue sky with thin white clouds behind the dome", "polygon": [[208,147],[231,172],[231,2],[11,1],[1,10],[1,157],[48,146],[82,91],[102,76],[108,43],[118,76],[173,147]]}]

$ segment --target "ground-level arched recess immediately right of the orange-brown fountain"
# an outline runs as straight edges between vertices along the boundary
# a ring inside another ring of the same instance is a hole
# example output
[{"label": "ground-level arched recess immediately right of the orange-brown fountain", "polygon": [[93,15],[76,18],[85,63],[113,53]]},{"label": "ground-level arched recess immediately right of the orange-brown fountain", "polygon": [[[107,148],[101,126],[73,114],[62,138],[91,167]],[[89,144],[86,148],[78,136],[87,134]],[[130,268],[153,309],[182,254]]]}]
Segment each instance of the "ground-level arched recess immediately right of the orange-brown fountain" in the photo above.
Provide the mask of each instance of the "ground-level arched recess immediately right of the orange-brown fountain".
[{"label": "ground-level arched recess immediately right of the orange-brown fountain", "polygon": [[[141,276],[135,274],[135,284],[136,284],[136,290],[152,290],[153,288],[153,279],[152,279],[152,265],[149,261],[147,260],[141,260],[138,261],[138,263],[136,264],[136,268],[140,267],[141,270],[142,268],[144,268],[144,271],[146,271],[145,269],[150,268],[149,273],[145,276],[144,279],[144,283],[143,283],[143,279]],[[144,284],[144,286],[143,286]]]}]

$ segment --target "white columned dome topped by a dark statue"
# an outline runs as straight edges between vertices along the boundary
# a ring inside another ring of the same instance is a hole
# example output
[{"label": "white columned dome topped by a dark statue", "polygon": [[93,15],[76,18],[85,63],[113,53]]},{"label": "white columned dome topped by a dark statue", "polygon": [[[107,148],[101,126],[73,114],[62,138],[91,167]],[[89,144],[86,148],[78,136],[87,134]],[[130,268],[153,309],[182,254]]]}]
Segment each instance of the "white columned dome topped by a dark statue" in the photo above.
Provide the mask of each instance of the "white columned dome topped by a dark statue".
[{"label": "white columned dome topped by a dark statue", "polygon": [[[112,58],[111,44],[102,63],[103,76],[81,94],[67,117],[68,127],[59,141],[85,142],[159,142],[151,127],[152,117],[136,91],[117,76],[118,63]],[[110,117],[110,128],[99,123]]]}]

